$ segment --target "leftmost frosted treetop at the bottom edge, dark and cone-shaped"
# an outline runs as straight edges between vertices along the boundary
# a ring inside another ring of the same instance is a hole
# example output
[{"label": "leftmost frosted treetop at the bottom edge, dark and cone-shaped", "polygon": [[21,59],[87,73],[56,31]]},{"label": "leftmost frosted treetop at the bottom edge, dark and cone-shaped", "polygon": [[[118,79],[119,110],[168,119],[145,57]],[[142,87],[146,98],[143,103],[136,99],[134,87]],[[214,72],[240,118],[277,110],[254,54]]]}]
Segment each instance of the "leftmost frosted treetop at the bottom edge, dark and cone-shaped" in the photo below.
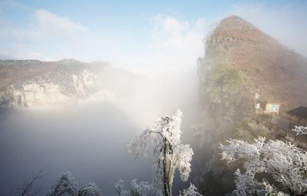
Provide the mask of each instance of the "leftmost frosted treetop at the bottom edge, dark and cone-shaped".
[{"label": "leftmost frosted treetop at the bottom edge, dark and cone-shaped", "polygon": [[70,172],[65,172],[47,193],[47,196],[77,196],[77,182]]}]

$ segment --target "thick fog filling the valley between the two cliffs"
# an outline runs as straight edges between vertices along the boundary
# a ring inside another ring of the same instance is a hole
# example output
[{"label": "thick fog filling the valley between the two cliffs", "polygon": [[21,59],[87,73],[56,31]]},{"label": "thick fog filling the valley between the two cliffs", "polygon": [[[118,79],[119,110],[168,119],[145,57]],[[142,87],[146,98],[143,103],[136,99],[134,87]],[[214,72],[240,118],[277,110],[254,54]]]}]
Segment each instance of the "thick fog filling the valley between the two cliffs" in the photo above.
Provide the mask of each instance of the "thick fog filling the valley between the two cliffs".
[{"label": "thick fog filling the valley between the two cliffs", "polygon": [[[117,83],[110,79],[99,84],[112,93],[109,99],[2,111],[1,193],[21,187],[47,163],[51,172],[37,181],[43,187],[40,194],[65,171],[72,172],[79,187],[95,181],[103,195],[115,194],[113,185],[119,179],[127,188],[133,179],[151,182],[151,150],[147,158],[135,160],[127,145],[136,132],[176,108],[184,114],[182,141],[192,144],[198,98],[195,69],[117,78]],[[176,176],[174,194],[182,184]]]}]

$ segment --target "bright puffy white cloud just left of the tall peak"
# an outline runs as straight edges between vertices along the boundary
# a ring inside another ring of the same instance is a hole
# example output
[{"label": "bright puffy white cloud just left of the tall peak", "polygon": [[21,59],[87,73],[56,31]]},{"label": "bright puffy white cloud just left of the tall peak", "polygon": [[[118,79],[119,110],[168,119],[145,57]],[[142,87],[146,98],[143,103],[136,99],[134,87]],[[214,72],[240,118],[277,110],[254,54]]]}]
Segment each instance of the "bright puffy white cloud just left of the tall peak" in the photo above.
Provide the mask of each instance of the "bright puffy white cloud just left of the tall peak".
[{"label": "bright puffy white cloud just left of the tall peak", "polygon": [[[156,49],[156,66],[165,69],[196,67],[196,60],[204,53],[202,40],[208,29],[205,18],[194,23],[179,21],[171,16],[154,20],[151,47]],[[163,65],[165,64],[165,65]]]}]

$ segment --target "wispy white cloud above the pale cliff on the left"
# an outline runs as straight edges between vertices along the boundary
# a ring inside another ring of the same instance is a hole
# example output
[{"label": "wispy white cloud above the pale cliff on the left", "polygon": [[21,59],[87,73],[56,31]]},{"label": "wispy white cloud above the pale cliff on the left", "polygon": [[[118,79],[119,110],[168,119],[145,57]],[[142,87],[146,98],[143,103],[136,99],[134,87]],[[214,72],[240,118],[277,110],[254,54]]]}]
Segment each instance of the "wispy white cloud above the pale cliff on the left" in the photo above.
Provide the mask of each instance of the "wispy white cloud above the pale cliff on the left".
[{"label": "wispy white cloud above the pale cliff on the left", "polygon": [[2,57],[43,61],[78,58],[84,37],[91,37],[87,28],[68,17],[44,9],[34,10],[33,16],[26,28],[0,20],[0,41],[6,44],[0,51]]}]

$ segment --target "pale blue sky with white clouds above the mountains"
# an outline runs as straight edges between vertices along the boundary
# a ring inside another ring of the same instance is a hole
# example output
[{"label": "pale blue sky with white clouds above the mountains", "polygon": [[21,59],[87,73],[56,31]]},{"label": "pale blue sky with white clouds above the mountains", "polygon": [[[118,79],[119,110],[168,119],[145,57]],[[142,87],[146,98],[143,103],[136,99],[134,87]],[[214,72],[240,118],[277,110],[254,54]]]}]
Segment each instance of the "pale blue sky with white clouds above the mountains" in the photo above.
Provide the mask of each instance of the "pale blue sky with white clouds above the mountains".
[{"label": "pale blue sky with white clouds above the mountains", "polygon": [[206,33],[230,15],[307,56],[306,10],[304,0],[0,0],[0,58],[194,66]]}]

